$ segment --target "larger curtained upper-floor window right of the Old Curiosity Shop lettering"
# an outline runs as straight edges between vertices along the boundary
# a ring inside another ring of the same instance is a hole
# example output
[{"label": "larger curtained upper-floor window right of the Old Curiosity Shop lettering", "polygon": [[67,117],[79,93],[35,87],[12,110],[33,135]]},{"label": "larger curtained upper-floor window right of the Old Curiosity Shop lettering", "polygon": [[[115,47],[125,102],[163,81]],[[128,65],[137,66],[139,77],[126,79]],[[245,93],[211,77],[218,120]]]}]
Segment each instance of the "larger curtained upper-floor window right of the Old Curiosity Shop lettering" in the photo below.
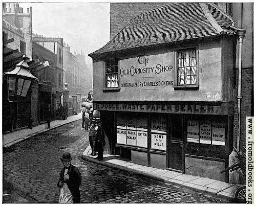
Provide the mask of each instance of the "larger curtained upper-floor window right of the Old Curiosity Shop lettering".
[{"label": "larger curtained upper-floor window right of the Old Curiosity Shop lettering", "polygon": [[198,87],[198,50],[187,48],[176,51],[175,88]]}]

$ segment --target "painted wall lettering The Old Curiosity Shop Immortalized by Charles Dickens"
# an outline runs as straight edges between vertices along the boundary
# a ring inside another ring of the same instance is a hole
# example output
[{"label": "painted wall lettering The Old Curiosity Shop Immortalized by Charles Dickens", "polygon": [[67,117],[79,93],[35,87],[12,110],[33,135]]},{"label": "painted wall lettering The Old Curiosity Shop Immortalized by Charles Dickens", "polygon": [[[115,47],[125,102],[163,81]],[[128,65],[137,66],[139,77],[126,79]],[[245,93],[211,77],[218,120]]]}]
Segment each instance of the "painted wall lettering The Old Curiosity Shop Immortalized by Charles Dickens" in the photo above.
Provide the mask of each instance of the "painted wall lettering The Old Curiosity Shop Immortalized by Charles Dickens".
[{"label": "painted wall lettering The Old Curiosity Shop Immortalized by Charles Dickens", "polygon": [[173,87],[174,58],[169,53],[145,55],[121,59],[120,87],[136,87],[147,90],[148,87]]}]

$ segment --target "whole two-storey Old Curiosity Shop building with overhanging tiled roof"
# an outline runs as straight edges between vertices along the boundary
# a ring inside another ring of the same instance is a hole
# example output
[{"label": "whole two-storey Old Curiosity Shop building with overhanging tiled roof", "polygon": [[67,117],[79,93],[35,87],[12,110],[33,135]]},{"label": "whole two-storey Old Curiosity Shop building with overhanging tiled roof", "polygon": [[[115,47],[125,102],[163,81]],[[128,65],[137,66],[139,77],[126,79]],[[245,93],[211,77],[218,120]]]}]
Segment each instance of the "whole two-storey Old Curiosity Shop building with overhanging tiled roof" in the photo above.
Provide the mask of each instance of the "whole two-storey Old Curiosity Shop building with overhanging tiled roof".
[{"label": "whole two-storey Old Curiosity Shop building with overhanging tiled roof", "polygon": [[209,3],[131,18],[93,58],[94,109],[112,154],[230,181],[234,67],[245,30]]}]

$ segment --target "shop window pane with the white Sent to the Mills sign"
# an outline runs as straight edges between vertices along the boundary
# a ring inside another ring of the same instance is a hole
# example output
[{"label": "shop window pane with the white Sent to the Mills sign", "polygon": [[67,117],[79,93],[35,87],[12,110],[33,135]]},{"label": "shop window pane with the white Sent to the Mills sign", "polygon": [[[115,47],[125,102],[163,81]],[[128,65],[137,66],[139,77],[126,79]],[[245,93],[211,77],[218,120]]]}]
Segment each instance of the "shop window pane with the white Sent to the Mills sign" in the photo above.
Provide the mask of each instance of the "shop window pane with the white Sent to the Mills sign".
[{"label": "shop window pane with the white Sent to the Mills sign", "polygon": [[166,117],[155,115],[151,119],[151,149],[166,150]]}]

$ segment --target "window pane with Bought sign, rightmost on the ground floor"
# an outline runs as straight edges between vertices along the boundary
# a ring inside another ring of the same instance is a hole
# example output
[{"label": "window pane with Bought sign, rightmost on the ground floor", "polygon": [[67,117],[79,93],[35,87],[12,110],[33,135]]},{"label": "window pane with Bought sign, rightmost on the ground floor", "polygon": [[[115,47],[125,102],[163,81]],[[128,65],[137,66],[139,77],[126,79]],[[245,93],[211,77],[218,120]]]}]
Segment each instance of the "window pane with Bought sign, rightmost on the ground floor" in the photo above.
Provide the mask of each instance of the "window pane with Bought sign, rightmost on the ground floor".
[{"label": "window pane with Bought sign, rightmost on the ground floor", "polygon": [[225,122],[212,122],[212,144],[225,145]]}]

